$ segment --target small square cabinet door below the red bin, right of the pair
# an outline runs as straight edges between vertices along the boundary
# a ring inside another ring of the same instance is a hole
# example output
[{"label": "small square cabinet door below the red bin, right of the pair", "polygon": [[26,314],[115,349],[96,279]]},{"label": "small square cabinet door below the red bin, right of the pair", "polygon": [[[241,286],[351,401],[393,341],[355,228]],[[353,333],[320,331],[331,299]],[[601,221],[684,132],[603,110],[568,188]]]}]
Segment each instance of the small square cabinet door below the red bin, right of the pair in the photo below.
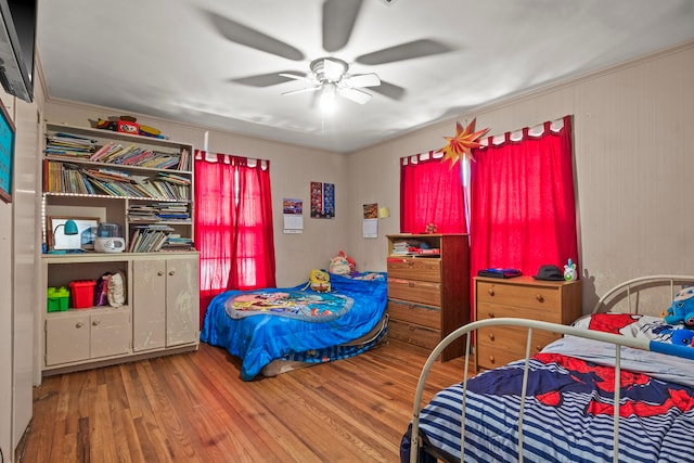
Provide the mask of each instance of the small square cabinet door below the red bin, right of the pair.
[{"label": "small square cabinet door below the red bin, right of the pair", "polygon": [[92,359],[130,352],[130,312],[128,310],[92,313],[90,323]]}]

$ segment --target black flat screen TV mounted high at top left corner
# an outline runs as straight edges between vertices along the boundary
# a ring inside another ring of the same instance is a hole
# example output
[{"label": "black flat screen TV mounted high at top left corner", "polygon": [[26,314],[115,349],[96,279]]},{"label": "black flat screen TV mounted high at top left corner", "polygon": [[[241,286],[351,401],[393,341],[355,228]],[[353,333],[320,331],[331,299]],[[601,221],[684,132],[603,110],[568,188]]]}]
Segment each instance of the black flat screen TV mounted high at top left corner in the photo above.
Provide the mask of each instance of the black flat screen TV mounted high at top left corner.
[{"label": "black flat screen TV mounted high at top left corner", "polygon": [[5,92],[34,100],[38,0],[0,0],[0,82]]}]

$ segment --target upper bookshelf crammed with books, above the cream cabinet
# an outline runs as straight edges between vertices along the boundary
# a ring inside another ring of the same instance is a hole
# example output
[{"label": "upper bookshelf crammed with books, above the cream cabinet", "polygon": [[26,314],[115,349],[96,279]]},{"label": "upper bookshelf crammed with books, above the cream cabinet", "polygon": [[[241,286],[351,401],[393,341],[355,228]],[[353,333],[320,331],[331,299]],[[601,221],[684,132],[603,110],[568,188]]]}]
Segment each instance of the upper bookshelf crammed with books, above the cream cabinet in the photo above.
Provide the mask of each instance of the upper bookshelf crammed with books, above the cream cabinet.
[{"label": "upper bookshelf crammed with books, above the cream cabinet", "polygon": [[[192,250],[192,154],[189,143],[47,124],[42,216],[102,208],[100,221],[118,223],[130,252]],[[171,242],[131,246],[143,231]]]}]

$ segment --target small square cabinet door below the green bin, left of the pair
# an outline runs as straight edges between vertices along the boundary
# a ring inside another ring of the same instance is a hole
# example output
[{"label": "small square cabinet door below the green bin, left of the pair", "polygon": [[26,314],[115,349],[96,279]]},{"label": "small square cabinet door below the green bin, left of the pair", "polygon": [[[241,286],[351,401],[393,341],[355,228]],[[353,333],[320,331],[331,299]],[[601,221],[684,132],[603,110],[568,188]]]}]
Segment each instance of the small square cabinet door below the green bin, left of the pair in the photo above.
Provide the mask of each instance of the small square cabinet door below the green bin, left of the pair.
[{"label": "small square cabinet door below the green bin, left of the pair", "polygon": [[89,359],[89,314],[46,320],[46,364]]}]

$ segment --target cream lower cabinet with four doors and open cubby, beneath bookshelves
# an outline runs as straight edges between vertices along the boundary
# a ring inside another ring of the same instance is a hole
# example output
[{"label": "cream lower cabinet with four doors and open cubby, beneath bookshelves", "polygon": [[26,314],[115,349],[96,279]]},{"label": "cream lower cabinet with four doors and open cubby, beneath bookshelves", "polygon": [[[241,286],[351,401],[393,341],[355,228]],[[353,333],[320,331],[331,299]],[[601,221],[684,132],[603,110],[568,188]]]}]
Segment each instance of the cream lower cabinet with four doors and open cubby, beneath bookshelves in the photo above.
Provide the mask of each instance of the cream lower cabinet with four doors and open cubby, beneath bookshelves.
[{"label": "cream lower cabinet with four doors and open cubby, beneath bookshelves", "polygon": [[[198,259],[196,252],[44,255],[43,374],[197,349]],[[48,286],[114,271],[126,276],[123,306],[47,311]]]}]

